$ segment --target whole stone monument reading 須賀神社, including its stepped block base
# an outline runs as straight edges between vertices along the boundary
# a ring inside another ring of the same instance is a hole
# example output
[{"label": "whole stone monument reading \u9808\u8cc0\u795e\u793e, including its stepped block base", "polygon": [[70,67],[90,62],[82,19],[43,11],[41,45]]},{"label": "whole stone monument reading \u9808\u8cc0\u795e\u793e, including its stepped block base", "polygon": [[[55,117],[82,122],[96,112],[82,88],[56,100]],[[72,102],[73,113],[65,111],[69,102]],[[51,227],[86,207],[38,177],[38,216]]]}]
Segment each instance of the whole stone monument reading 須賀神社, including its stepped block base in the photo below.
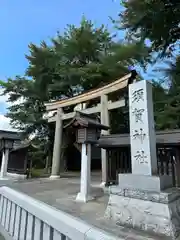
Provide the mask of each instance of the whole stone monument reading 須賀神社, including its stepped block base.
[{"label": "whole stone monument reading \u9808\u8cc0\u795e\u793e, including its stepped block base", "polygon": [[158,176],[152,84],[129,85],[132,174],[119,174],[111,187],[105,217],[124,225],[176,239],[180,234],[180,193],[172,178]]}]

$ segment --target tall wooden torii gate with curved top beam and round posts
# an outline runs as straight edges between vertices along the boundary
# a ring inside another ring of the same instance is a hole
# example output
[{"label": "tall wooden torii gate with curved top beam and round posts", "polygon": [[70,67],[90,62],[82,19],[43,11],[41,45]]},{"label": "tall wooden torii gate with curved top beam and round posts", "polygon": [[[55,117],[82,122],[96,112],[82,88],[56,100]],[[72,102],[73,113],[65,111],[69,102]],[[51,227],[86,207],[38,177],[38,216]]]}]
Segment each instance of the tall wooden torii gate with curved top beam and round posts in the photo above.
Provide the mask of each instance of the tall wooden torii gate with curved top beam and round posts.
[{"label": "tall wooden torii gate with curved top beam and round posts", "polygon": [[[64,113],[63,108],[69,106],[76,106],[78,104],[86,103],[92,99],[99,99],[99,103],[91,108],[82,109],[81,111],[86,114],[100,113],[101,124],[109,126],[109,111],[112,109],[125,106],[125,99],[123,96],[119,97],[117,101],[109,101],[108,94],[116,92],[120,89],[124,89],[132,83],[136,78],[136,71],[133,70],[126,76],[109,83],[101,88],[91,90],[87,93],[80,94],[78,96],[67,98],[59,101],[53,101],[46,103],[46,111],[57,112],[55,116],[48,119],[48,122],[56,122],[55,137],[54,137],[54,149],[52,159],[52,170],[50,178],[55,179],[60,177],[60,156],[62,146],[62,134],[63,134],[63,120],[71,119],[74,117],[75,112]],[[102,131],[102,135],[108,135],[109,131]],[[102,185],[107,182],[107,154],[105,149],[101,149],[101,166],[102,166]]]}]

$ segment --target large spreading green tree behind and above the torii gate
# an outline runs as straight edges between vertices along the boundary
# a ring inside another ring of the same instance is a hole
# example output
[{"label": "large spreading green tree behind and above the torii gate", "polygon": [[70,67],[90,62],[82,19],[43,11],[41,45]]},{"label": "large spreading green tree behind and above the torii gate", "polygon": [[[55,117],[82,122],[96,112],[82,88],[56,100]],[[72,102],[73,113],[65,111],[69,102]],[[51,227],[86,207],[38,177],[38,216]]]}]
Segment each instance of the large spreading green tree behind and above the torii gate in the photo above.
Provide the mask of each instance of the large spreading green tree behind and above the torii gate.
[{"label": "large spreading green tree behind and above the torii gate", "polygon": [[8,79],[2,86],[11,103],[23,99],[7,113],[14,127],[41,138],[50,134],[43,118],[45,102],[100,87],[126,74],[129,65],[145,67],[150,60],[144,44],[115,42],[104,26],[96,28],[85,19],[80,27],[67,26],[50,45],[30,44],[29,51],[25,76]]}]

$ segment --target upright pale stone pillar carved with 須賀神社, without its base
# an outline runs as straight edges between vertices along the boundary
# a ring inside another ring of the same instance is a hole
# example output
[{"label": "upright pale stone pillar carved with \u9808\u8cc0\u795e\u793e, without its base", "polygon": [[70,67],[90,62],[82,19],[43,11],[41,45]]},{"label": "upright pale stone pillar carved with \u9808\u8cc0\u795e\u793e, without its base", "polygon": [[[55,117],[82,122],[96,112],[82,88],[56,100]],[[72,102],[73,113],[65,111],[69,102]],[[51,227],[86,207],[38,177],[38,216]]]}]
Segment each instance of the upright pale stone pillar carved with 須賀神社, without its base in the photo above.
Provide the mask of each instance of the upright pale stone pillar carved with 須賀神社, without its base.
[{"label": "upright pale stone pillar carved with \u9808\u8cc0\u795e\u793e, without its base", "polygon": [[152,84],[129,85],[129,116],[132,173],[152,175],[157,170]]}]

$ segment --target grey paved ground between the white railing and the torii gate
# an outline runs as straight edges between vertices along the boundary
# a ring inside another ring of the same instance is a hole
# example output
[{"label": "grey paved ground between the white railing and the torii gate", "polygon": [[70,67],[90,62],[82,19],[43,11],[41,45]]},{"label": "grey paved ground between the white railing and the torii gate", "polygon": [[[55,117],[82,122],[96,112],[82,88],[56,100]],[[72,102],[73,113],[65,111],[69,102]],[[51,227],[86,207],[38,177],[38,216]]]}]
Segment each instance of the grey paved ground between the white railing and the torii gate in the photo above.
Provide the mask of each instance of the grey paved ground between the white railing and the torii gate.
[{"label": "grey paved ground between the white railing and the torii gate", "polygon": [[108,203],[108,195],[105,195],[99,188],[99,183],[98,177],[94,176],[92,194],[95,200],[85,204],[75,202],[79,191],[79,179],[77,177],[69,176],[59,180],[26,180],[24,182],[4,181],[0,182],[0,185],[8,185],[126,240],[165,239],[144,235],[142,232],[125,227],[118,227],[105,220],[104,212]]}]

